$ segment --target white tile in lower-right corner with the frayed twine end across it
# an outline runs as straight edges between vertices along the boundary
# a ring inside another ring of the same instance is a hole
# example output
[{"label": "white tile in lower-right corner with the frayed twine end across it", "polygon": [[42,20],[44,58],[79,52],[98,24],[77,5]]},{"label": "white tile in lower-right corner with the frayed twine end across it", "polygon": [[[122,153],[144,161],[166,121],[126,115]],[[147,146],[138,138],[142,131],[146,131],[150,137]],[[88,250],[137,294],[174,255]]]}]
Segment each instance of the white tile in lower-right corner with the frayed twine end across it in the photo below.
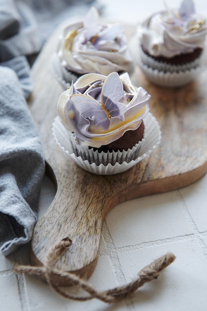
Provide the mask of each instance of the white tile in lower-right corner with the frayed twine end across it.
[{"label": "white tile in lower-right corner with the frayed twine end across it", "polygon": [[140,310],[140,304],[142,311],[205,310],[207,296],[201,289],[207,288],[204,278],[207,274],[207,259],[196,238],[120,253],[118,256],[126,281],[133,279],[147,262],[150,263],[167,251],[176,255],[175,262],[157,280],[144,285],[136,293],[133,299],[135,310]]}]

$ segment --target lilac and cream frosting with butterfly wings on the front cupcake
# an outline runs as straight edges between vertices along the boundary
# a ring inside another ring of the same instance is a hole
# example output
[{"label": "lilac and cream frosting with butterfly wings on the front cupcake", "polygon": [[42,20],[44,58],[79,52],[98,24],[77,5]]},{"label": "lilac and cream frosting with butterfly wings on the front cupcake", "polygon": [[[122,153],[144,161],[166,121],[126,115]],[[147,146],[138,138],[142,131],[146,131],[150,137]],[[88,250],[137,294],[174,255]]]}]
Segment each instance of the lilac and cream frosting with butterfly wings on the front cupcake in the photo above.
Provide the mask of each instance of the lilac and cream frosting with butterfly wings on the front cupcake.
[{"label": "lilac and cream frosting with butterfly wings on the front cupcake", "polygon": [[86,74],[60,95],[57,114],[77,144],[99,148],[138,129],[150,97],[128,73]]}]

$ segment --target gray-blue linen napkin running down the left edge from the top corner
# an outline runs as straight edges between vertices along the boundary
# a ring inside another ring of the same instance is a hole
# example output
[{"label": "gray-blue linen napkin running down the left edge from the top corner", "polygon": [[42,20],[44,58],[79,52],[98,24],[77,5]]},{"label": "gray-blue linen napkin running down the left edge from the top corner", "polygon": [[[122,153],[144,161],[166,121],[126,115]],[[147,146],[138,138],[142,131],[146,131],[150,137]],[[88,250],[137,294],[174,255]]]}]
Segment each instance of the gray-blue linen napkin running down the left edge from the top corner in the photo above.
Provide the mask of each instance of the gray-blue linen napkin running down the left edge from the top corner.
[{"label": "gray-blue linen napkin running down the left edge from the top corner", "polygon": [[39,134],[25,98],[32,92],[27,57],[41,44],[32,11],[0,0],[0,252],[31,239],[45,170]]}]

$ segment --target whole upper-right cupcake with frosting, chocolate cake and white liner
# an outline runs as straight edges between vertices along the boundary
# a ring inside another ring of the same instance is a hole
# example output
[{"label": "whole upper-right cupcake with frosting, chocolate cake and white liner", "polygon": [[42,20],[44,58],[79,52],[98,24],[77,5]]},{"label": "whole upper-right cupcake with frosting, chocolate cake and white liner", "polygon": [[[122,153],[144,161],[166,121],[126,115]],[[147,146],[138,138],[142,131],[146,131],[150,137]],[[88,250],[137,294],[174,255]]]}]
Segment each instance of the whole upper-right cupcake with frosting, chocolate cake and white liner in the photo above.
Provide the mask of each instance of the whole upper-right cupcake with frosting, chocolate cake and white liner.
[{"label": "whole upper-right cupcake with frosting, chocolate cake and white liner", "polygon": [[155,84],[181,86],[204,68],[206,35],[205,17],[195,12],[192,0],[183,0],[179,9],[157,12],[138,27],[134,56]]}]

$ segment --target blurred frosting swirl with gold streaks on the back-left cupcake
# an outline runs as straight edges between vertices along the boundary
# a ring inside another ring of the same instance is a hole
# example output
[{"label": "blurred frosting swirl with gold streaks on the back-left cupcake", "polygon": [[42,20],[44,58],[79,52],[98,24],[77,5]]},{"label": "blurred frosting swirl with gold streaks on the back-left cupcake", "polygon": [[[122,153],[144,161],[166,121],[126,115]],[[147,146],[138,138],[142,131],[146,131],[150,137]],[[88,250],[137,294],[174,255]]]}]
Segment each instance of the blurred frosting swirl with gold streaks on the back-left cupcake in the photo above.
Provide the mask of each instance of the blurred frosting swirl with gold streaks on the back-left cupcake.
[{"label": "blurred frosting swirl with gold streaks on the back-left cupcake", "polygon": [[64,87],[87,73],[132,73],[123,25],[100,24],[98,10],[91,7],[83,21],[63,28],[52,56],[52,72]]}]

